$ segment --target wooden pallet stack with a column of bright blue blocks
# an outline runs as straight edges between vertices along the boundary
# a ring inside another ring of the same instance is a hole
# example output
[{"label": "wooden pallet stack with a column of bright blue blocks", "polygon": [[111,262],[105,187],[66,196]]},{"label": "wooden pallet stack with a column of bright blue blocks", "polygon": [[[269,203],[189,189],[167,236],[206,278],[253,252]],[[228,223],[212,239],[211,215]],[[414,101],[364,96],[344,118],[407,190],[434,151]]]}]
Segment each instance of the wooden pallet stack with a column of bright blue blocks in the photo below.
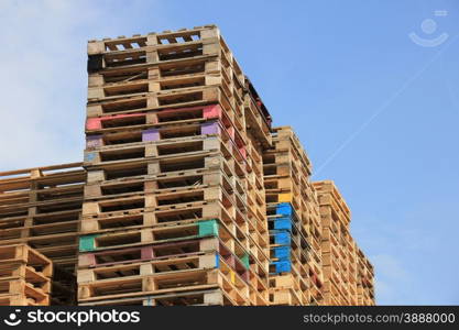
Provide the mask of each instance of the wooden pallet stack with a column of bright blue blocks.
[{"label": "wooden pallet stack with a column of bright blue blocks", "polygon": [[321,224],[310,162],[289,127],[273,129],[263,154],[273,305],[321,304]]}]

